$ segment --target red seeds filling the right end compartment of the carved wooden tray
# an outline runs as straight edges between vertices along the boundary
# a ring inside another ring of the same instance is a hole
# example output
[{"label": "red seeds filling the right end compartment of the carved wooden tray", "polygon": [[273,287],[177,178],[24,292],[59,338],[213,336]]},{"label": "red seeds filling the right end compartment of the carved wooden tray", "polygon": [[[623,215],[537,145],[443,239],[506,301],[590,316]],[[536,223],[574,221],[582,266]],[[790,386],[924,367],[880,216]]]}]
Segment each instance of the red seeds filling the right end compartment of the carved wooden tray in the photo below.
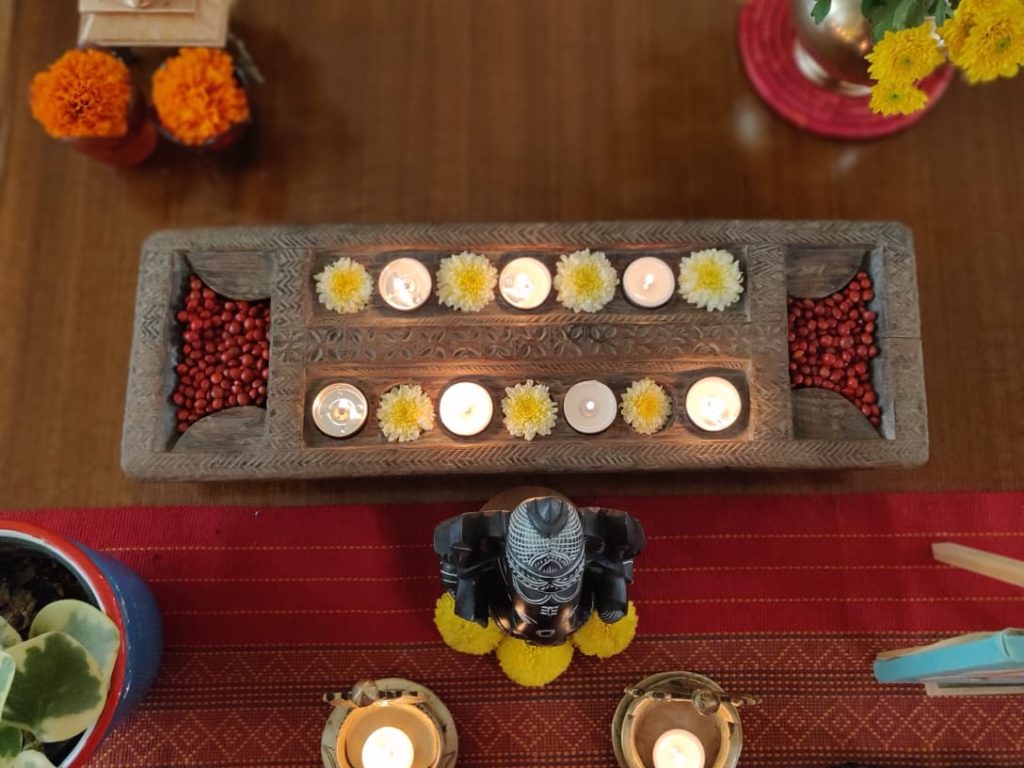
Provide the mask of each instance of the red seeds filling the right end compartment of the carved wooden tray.
[{"label": "red seeds filling the right end compartment of the carved wooden tray", "polygon": [[790,381],[794,389],[823,387],[860,409],[876,427],[882,423],[870,360],[878,356],[874,298],[867,272],[857,272],[842,291],[823,299],[788,297]]}]

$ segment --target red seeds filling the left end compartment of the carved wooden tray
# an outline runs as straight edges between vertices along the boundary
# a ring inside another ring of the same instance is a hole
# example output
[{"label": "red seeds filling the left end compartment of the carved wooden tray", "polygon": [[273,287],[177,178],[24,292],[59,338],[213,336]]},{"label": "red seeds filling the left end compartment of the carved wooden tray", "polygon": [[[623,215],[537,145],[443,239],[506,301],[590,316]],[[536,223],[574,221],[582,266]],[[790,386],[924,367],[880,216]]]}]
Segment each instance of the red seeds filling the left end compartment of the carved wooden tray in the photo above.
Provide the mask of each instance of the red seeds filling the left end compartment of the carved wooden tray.
[{"label": "red seeds filling the left end compartment of the carved wooden tray", "polygon": [[233,406],[262,406],[269,374],[270,307],[232,301],[188,279],[181,324],[181,362],[172,399],[178,431]]}]

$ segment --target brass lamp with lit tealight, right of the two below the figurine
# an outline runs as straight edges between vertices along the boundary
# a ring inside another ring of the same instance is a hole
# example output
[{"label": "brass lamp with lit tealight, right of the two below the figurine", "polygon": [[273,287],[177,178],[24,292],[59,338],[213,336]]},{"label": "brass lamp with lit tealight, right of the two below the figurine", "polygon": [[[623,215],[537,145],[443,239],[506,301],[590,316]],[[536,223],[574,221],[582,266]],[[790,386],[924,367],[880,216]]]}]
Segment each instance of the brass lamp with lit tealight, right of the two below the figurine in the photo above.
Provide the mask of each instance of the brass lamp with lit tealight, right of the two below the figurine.
[{"label": "brass lamp with lit tealight, right of the two below the figurine", "polygon": [[754,703],[692,672],[651,675],[627,688],[615,710],[615,761],[620,768],[734,768],[743,745],[738,710]]}]

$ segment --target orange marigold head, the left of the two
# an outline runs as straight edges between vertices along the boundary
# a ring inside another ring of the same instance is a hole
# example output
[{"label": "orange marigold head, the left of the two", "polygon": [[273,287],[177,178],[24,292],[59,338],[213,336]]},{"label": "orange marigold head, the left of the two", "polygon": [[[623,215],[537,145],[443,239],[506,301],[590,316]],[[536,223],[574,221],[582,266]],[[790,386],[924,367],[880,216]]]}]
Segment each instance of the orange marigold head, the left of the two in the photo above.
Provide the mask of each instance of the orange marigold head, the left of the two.
[{"label": "orange marigold head, the left of the two", "polygon": [[32,79],[32,115],[55,138],[114,138],[128,132],[131,75],[101,50],[70,50]]}]

